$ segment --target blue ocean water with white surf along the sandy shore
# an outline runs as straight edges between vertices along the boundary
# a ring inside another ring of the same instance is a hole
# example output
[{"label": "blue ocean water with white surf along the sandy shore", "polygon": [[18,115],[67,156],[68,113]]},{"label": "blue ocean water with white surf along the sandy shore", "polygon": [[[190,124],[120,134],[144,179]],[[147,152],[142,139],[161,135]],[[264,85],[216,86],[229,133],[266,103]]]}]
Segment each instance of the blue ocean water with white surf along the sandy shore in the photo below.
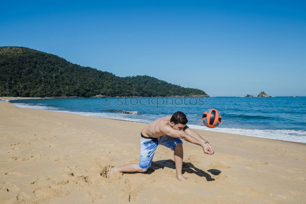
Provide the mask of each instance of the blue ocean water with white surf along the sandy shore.
[{"label": "blue ocean water with white surf along the sandy shore", "polygon": [[[10,100],[20,108],[39,108],[103,118],[150,123],[182,111],[188,126],[202,130],[306,143],[306,97],[192,98],[63,98]],[[222,115],[216,128],[202,123],[202,114],[215,108]],[[205,137],[205,136],[204,136]]]}]

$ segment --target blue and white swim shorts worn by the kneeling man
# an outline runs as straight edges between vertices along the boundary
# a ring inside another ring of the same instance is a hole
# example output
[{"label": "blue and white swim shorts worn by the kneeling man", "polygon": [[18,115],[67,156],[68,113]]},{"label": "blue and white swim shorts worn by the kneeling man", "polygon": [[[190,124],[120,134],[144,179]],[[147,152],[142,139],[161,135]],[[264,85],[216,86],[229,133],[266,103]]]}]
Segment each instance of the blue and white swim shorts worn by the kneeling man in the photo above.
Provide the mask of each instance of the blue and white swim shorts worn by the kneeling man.
[{"label": "blue and white swim shorts worn by the kneeling man", "polygon": [[147,169],[152,164],[152,159],[158,145],[163,145],[174,150],[178,144],[182,143],[180,138],[173,138],[168,135],[160,136],[158,138],[149,138],[141,134],[140,138],[140,161],[138,166]]}]

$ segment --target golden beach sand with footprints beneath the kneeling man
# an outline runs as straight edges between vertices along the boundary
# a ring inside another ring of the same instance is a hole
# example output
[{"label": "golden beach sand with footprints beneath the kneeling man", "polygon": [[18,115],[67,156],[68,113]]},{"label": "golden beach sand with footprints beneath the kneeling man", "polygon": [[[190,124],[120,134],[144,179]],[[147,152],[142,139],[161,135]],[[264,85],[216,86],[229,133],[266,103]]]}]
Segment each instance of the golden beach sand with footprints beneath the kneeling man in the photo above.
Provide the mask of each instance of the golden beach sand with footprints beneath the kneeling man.
[{"label": "golden beach sand with footprints beneath the kneeling man", "polygon": [[0,203],[305,203],[306,144],[196,130],[214,155],[183,141],[183,176],[159,146],[145,173],[145,123],[17,108],[0,101]]}]

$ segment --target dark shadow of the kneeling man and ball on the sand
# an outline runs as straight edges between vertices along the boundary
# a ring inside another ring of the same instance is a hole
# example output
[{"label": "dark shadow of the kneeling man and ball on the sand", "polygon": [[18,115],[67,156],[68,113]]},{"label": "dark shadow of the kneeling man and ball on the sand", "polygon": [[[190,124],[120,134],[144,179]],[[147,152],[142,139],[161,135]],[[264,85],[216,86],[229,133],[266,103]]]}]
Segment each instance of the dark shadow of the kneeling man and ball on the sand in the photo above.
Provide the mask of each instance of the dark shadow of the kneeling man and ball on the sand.
[{"label": "dark shadow of the kneeling man and ball on the sand", "polygon": [[[146,172],[143,174],[151,174],[155,172],[155,170],[160,169],[160,168],[172,168],[175,169],[175,162],[171,159],[168,160],[159,160],[159,161],[152,161],[152,165]],[[218,169],[209,169],[207,170],[213,175],[219,175],[221,171]],[[211,178],[211,176],[204,172],[203,170],[196,168],[192,163],[190,162],[183,162],[183,167],[182,167],[182,173],[184,174],[185,172],[190,173],[190,174],[196,174],[201,177],[205,177],[207,181],[214,181],[215,179]],[[134,173],[139,173],[139,172],[134,172]]]}]

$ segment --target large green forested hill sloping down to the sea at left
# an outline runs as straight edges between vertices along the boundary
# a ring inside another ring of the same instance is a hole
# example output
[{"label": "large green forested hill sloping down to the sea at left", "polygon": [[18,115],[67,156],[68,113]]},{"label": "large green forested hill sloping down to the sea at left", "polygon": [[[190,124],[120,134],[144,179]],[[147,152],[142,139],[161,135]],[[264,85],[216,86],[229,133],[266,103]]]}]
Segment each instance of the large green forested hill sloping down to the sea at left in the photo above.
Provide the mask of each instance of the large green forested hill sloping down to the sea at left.
[{"label": "large green forested hill sloping down to the sea at left", "polygon": [[0,47],[1,96],[207,96],[149,76],[117,77],[79,66],[56,55],[25,48]]}]

